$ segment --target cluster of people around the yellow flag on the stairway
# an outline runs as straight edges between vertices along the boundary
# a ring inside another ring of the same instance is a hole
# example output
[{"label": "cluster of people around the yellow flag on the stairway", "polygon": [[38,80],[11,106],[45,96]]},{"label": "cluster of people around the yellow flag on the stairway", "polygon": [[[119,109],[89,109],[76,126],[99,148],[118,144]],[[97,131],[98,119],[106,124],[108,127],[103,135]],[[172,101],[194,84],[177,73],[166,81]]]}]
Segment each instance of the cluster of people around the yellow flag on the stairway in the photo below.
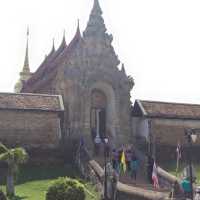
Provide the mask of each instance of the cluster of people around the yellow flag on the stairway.
[{"label": "cluster of people around the yellow flag on the stairway", "polygon": [[113,149],[111,153],[113,169],[120,175],[126,171],[136,180],[139,168],[139,159],[133,148]]}]

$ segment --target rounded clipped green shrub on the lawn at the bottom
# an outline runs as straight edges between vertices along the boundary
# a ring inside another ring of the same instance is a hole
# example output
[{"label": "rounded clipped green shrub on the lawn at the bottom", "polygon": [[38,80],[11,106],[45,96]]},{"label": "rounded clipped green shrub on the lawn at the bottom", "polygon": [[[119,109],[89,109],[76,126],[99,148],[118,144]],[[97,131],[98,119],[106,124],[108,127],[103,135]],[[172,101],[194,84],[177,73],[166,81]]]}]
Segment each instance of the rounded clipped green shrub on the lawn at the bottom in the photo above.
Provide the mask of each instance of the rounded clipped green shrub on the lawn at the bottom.
[{"label": "rounded clipped green shrub on the lawn at the bottom", "polygon": [[58,178],[48,188],[46,200],[84,200],[84,185],[71,178]]}]

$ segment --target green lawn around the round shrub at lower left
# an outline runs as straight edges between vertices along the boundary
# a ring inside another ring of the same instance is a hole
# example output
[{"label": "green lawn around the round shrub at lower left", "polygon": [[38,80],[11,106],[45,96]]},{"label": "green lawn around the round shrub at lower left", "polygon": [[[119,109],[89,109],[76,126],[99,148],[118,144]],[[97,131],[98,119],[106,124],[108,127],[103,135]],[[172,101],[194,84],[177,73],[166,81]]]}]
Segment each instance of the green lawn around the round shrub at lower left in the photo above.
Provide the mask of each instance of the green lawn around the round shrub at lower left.
[{"label": "green lawn around the round shrub at lower left", "polygon": [[[67,167],[24,167],[16,180],[15,200],[45,200],[45,194],[51,182],[58,177],[69,176],[80,179],[79,174],[71,166]],[[82,181],[82,180],[81,180]],[[83,182],[93,196],[86,193],[86,200],[98,200],[99,194],[87,182]],[[1,186],[5,191],[5,186]]]}]

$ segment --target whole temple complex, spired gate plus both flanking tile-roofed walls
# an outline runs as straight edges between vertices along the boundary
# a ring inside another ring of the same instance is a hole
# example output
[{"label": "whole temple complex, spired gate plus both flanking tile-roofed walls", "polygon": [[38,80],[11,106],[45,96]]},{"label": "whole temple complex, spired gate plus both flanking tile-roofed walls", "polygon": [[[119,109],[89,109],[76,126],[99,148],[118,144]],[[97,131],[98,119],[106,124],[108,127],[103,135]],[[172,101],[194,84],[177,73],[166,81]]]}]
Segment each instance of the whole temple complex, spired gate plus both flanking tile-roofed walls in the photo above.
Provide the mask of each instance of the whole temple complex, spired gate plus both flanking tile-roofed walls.
[{"label": "whole temple complex, spired gate plus both flanking tile-roofed walls", "polygon": [[115,53],[99,1],[93,1],[85,30],[78,23],[69,43],[65,34],[57,49],[53,43],[34,73],[27,31],[15,93],[0,93],[0,141],[36,148],[37,158],[38,149],[80,138],[90,148],[106,137],[111,146],[134,143],[157,159],[175,158],[177,142],[185,146],[184,130],[200,128],[200,105],[136,100],[132,106],[133,78]]}]

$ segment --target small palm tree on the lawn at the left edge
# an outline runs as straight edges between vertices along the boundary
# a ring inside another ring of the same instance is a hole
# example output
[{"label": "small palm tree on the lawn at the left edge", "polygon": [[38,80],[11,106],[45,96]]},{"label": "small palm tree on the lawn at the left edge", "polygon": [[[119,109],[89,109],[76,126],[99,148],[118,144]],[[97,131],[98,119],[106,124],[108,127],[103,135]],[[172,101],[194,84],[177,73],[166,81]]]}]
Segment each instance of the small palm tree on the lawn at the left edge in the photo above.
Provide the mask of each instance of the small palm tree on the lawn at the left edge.
[{"label": "small palm tree on the lawn at the left edge", "polygon": [[25,163],[28,159],[28,154],[23,148],[8,149],[0,143],[0,160],[7,163],[7,180],[6,193],[8,196],[15,195],[14,175],[17,172],[18,166]]}]

